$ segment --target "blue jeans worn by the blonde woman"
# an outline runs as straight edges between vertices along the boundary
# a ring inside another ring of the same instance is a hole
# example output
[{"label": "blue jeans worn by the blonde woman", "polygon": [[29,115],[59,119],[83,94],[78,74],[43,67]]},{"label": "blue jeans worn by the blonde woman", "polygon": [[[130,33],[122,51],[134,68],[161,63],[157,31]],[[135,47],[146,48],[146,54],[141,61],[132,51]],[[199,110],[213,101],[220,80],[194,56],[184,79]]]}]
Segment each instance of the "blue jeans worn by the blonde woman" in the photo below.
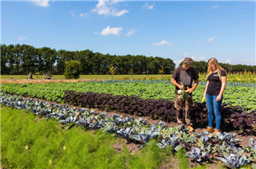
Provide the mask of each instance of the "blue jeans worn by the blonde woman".
[{"label": "blue jeans worn by the blonde woman", "polygon": [[208,119],[209,119],[209,127],[213,127],[214,115],[216,120],[216,129],[219,130],[222,120],[221,108],[222,108],[222,100],[217,101],[217,96],[210,96],[206,94],[206,106],[208,109]]}]

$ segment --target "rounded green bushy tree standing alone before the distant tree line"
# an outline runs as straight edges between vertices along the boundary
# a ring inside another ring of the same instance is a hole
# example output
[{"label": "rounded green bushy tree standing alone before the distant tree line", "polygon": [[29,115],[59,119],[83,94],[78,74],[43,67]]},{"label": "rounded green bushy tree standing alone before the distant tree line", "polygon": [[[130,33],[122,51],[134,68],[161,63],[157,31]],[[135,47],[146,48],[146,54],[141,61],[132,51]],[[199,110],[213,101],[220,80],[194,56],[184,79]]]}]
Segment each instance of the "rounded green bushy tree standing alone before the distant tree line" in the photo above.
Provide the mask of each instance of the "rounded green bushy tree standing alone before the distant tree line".
[{"label": "rounded green bushy tree standing alone before the distant tree line", "polygon": [[80,78],[81,63],[79,61],[67,61],[65,73],[63,74],[66,79]]}]

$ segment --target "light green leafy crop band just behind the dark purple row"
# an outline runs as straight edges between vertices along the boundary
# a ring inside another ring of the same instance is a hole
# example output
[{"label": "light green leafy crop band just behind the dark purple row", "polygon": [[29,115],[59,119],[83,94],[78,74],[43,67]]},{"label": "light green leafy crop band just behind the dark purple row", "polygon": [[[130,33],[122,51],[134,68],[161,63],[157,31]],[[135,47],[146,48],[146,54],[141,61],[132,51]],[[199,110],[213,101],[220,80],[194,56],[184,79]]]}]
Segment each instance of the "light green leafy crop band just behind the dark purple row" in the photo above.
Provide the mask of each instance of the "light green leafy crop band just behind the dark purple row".
[{"label": "light green leafy crop band just behind the dark purple row", "polygon": [[[16,94],[20,96],[30,96],[57,103],[64,102],[64,92],[66,90],[74,90],[76,92],[99,92],[112,93],[114,95],[134,95],[143,99],[166,99],[174,100],[174,85],[166,83],[48,83],[48,84],[6,84],[0,85],[0,92]],[[204,85],[198,85],[193,92],[194,102],[201,102],[202,95],[205,90]],[[246,108],[246,111],[256,109],[256,88],[247,88],[242,86],[230,87],[226,86],[224,92],[223,104],[230,103],[232,105],[240,105]]]}]

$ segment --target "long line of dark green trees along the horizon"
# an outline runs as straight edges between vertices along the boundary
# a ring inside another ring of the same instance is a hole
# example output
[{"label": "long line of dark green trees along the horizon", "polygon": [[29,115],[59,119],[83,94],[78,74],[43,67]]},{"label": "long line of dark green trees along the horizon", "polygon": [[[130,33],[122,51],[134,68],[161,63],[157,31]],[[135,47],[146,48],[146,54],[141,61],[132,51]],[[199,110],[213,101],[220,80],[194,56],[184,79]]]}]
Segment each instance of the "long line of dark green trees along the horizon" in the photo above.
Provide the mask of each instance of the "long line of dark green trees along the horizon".
[{"label": "long line of dark green trees along the horizon", "polygon": [[[164,69],[165,74],[173,73],[175,63],[170,58],[146,57],[144,55],[110,55],[94,53],[86,49],[68,51],[50,49],[49,47],[35,48],[32,45],[2,45],[0,44],[0,73],[28,74],[51,73],[63,74],[66,61],[77,60],[82,65],[81,74],[107,74],[109,66],[115,67],[116,74],[158,74]],[[182,63],[180,64],[182,65]],[[256,71],[256,66],[220,64],[227,72]],[[194,61],[193,67],[199,73],[206,73],[206,61]]]}]

